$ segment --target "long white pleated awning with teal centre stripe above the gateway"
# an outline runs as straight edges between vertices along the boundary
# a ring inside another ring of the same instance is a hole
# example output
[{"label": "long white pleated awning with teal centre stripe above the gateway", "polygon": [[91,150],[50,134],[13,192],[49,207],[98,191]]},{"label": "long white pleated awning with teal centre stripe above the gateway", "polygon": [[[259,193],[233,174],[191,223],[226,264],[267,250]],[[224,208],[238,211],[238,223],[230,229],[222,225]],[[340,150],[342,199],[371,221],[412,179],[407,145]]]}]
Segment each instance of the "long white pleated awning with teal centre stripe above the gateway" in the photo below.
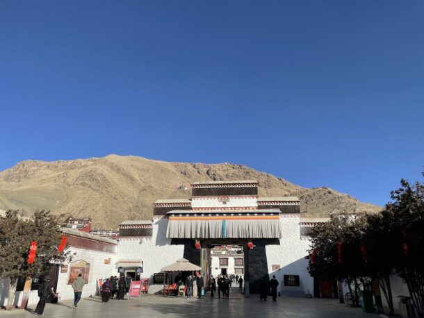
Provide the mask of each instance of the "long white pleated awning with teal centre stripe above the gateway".
[{"label": "long white pleated awning with teal centre stripe above the gateway", "polygon": [[168,238],[281,238],[279,215],[169,217]]}]

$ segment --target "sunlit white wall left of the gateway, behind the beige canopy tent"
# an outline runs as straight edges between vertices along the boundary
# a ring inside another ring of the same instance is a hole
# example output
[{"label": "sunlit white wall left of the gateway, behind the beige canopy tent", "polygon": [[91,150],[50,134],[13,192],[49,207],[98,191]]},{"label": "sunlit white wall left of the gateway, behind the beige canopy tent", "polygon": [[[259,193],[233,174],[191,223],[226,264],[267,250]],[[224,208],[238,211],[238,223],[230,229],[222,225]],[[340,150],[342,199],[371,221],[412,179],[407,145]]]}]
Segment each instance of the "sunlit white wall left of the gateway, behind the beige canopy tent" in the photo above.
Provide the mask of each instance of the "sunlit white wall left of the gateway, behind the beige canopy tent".
[{"label": "sunlit white wall left of the gateway, behind the beige canopy tent", "polygon": [[[171,265],[182,258],[184,245],[171,245],[171,240],[166,238],[167,226],[168,219],[155,218],[152,239],[122,237],[118,244],[117,260],[142,260],[141,278],[152,278],[154,273],[161,272],[162,267]],[[115,268],[117,270],[117,265]],[[152,285],[152,279],[149,283],[149,294],[163,288],[163,285]]]}]

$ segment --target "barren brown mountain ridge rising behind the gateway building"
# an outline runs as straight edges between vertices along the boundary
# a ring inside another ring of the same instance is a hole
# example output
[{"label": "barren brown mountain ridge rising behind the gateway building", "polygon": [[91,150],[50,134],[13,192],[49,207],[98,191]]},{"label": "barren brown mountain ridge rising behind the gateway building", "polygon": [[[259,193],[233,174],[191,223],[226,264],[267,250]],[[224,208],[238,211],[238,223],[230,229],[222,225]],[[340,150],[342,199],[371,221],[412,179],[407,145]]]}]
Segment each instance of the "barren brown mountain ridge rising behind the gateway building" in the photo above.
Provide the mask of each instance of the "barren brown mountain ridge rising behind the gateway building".
[{"label": "barren brown mountain ridge rising behind the gateway building", "polygon": [[97,228],[150,219],[156,199],[189,198],[190,183],[255,179],[261,196],[295,195],[304,217],[376,212],[327,187],[307,189],[243,165],[163,162],[134,156],[43,162],[26,160],[0,172],[0,209],[44,209],[91,217]]}]

